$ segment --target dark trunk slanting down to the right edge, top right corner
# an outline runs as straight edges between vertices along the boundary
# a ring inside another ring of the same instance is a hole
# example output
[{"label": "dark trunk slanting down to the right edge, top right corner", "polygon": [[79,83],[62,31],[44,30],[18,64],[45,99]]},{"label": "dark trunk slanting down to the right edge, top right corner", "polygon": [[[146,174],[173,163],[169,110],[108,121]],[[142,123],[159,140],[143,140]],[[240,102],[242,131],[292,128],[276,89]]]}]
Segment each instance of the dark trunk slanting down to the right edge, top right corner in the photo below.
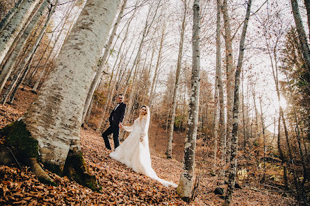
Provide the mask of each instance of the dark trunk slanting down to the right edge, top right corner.
[{"label": "dark trunk slanting down to the right edge, top right corner", "polygon": [[300,11],[298,8],[297,0],[291,0],[291,6],[296,25],[296,30],[298,33],[298,38],[300,40],[300,46],[302,47],[302,55],[304,57],[304,61],[306,62],[308,72],[310,72],[310,49],[307,42],[306,33],[304,32],[304,26],[302,26],[302,18],[300,17]]}]

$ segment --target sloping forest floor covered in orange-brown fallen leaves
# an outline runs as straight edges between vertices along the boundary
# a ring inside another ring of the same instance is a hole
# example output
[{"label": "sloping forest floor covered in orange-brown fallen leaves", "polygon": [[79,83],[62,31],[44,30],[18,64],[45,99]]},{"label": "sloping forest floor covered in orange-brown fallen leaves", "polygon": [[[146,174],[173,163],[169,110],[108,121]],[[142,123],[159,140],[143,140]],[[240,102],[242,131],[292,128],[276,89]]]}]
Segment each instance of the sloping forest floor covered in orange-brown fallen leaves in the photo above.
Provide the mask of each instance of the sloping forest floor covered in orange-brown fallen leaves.
[{"label": "sloping forest floor covered in orange-brown fallen leaves", "polygon": [[[0,105],[0,128],[17,120],[33,102],[35,94],[19,89],[13,105]],[[172,160],[165,158],[168,135],[153,123],[149,132],[152,166],[158,176],[177,183],[181,173],[184,133],[175,132]],[[1,138],[0,138],[1,142]],[[211,173],[211,151],[197,140],[197,171],[201,174],[197,196],[187,204],[176,189],[135,173],[111,157],[99,132],[81,128],[81,148],[90,172],[95,174],[103,193],[49,173],[57,187],[42,184],[26,166],[0,165],[0,205],[221,205],[222,199],[213,193],[217,179]],[[298,205],[294,198],[252,187],[236,189],[231,205]]]}]

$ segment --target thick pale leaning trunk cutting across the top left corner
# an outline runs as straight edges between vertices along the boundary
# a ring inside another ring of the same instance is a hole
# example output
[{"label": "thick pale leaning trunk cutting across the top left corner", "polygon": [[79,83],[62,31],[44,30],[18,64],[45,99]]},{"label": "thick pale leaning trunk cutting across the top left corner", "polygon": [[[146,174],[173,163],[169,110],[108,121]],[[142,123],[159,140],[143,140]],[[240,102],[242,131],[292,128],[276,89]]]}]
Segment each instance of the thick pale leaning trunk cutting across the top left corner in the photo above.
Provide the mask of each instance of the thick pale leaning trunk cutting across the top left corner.
[{"label": "thick pale leaning trunk cutting across the top left corner", "polygon": [[27,0],[23,1],[19,6],[18,10],[15,12],[10,21],[2,29],[0,33],[0,62],[8,53],[10,46],[12,46],[15,37],[17,37],[19,31],[22,30],[24,24],[26,24],[28,17],[30,17],[31,12],[38,4],[40,0]]}]

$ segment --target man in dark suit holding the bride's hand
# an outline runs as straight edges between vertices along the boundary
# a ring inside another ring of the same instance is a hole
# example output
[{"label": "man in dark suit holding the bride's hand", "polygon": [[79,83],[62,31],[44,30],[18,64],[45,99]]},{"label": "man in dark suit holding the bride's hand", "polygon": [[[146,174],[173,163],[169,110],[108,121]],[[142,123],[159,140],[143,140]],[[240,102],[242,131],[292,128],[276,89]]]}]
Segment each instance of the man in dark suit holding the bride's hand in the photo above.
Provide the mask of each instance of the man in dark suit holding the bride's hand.
[{"label": "man in dark suit holding the bride's hand", "polygon": [[114,141],[114,149],[120,145],[120,141],[118,140],[118,135],[120,133],[120,127],[122,126],[122,121],[124,119],[126,104],[123,103],[124,96],[122,94],[118,94],[117,105],[113,109],[108,118],[110,121],[110,127],[106,129],[104,133],[102,133],[102,137],[104,137],[104,144],[106,144],[106,148],[111,150],[110,142],[108,141],[108,135],[113,133],[113,141]]}]

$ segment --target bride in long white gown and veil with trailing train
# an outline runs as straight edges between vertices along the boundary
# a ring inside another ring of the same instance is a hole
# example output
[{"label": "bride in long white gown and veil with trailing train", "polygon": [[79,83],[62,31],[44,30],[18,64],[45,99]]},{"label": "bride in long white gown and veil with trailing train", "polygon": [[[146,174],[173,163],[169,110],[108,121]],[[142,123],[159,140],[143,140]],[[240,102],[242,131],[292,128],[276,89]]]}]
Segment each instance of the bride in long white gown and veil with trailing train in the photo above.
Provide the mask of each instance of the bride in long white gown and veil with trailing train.
[{"label": "bride in long white gown and veil with trailing train", "polygon": [[142,105],[140,116],[133,122],[132,126],[121,126],[127,132],[131,132],[120,146],[118,146],[110,157],[126,164],[136,173],[142,173],[154,180],[158,180],[166,187],[177,187],[177,184],[158,178],[152,168],[151,155],[149,154],[149,107]]}]

